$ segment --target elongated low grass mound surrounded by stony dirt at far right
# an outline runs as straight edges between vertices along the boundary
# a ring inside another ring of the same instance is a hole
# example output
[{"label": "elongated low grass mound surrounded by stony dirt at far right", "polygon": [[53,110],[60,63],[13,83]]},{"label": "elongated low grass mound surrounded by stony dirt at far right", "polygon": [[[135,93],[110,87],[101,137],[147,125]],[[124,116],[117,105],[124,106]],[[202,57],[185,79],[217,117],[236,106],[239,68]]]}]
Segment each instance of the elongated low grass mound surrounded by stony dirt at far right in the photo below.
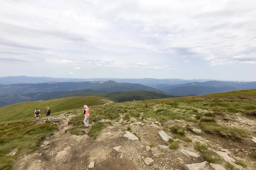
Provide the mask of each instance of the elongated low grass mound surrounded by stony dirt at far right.
[{"label": "elongated low grass mound surrounded by stony dirt at far right", "polygon": [[202,130],[210,133],[218,133],[224,137],[231,137],[232,139],[241,139],[243,136],[249,136],[245,130],[235,127],[225,127],[215,122],[201,122]]}]

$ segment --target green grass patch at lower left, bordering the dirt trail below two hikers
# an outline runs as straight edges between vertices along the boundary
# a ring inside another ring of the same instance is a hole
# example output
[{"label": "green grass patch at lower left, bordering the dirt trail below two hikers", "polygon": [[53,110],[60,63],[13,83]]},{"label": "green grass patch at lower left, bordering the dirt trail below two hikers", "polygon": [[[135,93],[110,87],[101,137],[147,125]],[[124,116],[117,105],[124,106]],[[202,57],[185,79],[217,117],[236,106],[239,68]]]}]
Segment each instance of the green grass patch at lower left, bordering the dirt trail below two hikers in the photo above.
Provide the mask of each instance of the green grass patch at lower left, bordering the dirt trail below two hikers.
[{"label": "green grass patch at lower left, bordering the dirt trail below two hikers", "polygon": [[[45,134],[57,131],[55,123],[35,124],[34,121],[12,121],[7,126],[0,124],[0,170],[11,170],[12,162],[23,153],[30,153],[40,146]],[[15,156],[7,156],[17,148]]]}]

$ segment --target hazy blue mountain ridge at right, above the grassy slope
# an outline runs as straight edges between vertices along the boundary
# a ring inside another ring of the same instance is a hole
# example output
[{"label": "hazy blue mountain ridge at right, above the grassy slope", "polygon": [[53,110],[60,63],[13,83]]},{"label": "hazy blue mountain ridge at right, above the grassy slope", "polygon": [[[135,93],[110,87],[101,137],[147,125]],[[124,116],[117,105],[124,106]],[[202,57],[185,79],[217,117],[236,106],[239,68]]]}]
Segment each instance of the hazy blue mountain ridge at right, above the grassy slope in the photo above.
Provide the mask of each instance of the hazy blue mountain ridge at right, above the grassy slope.
[{"label": "hazy blue mountain ridge at right, above the grassy slope", "polygon": [[207,81],[191,82],[183,85],[174,85],[160,87],[161,91],[174,96],[191,96],[204,95],[212,93],[221,93],[234,90],[254,89],[256,82],[224,82],[224,81]]}]

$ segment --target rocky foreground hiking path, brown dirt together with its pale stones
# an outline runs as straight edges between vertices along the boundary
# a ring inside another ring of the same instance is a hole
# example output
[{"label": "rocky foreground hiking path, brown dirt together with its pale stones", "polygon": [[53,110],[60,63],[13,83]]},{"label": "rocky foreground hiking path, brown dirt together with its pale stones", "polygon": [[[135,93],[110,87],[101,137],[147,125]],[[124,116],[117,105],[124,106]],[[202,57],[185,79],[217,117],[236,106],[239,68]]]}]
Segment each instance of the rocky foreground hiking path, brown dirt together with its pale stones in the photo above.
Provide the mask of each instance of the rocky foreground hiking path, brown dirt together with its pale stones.
[{"label": "rocky foreground hiking path, brown dirt together with its pale stones", "polygon": [[[15,170],[225,170],[218,164],[209,164],[201,159],[201,155],[195,150],[196,142],[208,144],[209,150],[214,151],[225,161],[233,164],[242,160],[236,149],[223,148],[221,144],[215,143],[215,139],[209,136],[201,136],[199,129],[186,133],[192,139],[191,143],[180,139],[180,148],[170,150],[168,140],[173,135],[162,131],[163,127],[154,119],[145,122],[134,122],[124,125],[121,116],[119,122],[113,122],[97,136],[92,139],[86,133],[80,136],[65,133],[66,129],[72,128],[68,125],[73,115],[59,115],[53,120],[60,120],[58,132],[46,135],[41,147],[34,153],[22,156],[15,161]],[[39,123],[44,123],[45,120]],[[178,124],[183,126],[186,122],[170,121],[167,124]],[[127,132],[131,126],[132,133]],[[136,132],[137,136],[133,133]],[[206,137],[206,138],[205,138]],[[153,146],[151,144],[154,144]],[[151,147],[149,147],[151,145]],[[240,156],[241,157],[241,156]],[[244,158],[243,158],[244,159]],[[247,169],[253,170],[255,161],[247,161]],[[242,167],[236,166],[238,169]]]}]

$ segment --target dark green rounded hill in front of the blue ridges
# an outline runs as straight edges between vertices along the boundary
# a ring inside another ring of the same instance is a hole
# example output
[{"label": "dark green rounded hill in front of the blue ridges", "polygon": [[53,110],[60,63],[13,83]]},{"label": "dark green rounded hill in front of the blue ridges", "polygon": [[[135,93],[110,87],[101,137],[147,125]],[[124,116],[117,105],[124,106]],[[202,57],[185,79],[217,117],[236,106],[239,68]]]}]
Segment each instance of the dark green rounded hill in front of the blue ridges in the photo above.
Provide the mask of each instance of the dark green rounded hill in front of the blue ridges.
[{"label": "dark green rounded hill in front of the blue ridges", "polygon": [[127,101],[133,101],[133,100],[148,100],[148,99],[163,99],[163,98],[174,97],[166,94],[156,93],[153,91],[120,91],[120,92],[102,93],[102,94],[77,92],[72,94],[64,94],[64,95],[58,96],[57,98],[71,97],[71,96],[102,96],[102,97],[107,97],[109,99],[115,100],[117,102],[127,102]]}]

